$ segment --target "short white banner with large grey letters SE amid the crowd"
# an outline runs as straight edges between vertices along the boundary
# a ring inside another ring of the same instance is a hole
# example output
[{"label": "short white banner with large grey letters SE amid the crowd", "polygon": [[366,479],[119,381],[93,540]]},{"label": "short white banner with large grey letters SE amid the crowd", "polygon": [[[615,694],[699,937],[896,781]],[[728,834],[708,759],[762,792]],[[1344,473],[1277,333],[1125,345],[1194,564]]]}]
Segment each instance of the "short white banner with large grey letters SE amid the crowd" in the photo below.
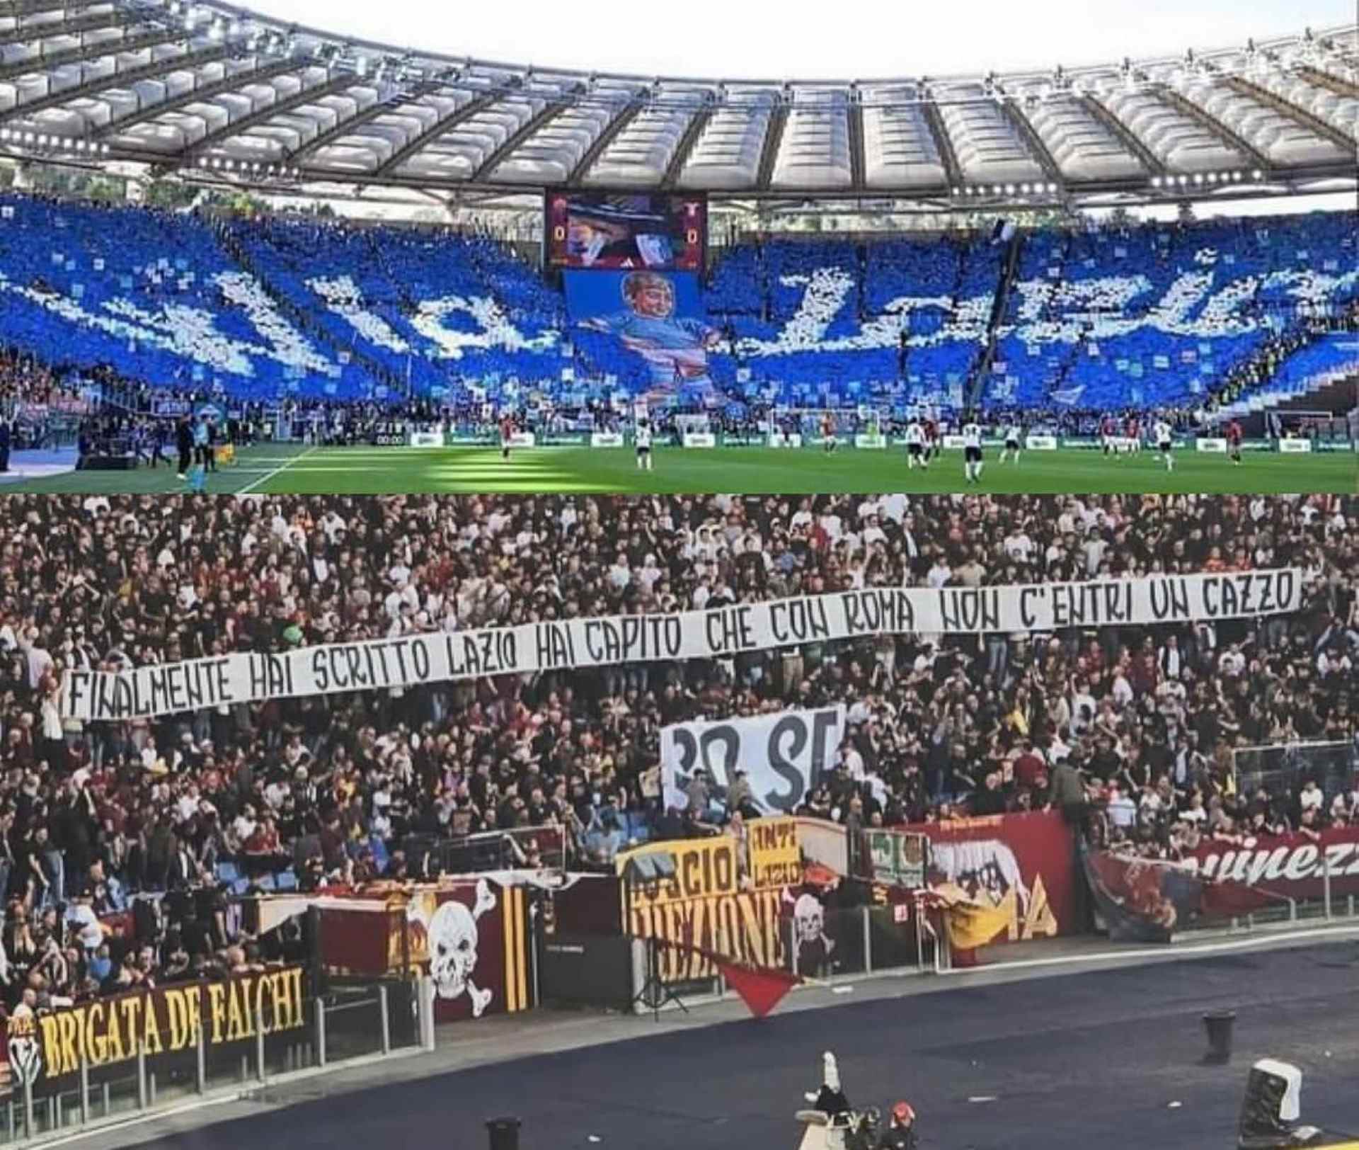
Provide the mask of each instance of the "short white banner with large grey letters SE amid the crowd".
[{"label": "short white banner with large grey letters SE amid the crowd", "polygon": [[761,812],[790,814],[833,765],[844,730],[843,705],[662,727],[662,794],[669,806],[682,810],[684,788],[700,767],[724,788],[741,768]]}]

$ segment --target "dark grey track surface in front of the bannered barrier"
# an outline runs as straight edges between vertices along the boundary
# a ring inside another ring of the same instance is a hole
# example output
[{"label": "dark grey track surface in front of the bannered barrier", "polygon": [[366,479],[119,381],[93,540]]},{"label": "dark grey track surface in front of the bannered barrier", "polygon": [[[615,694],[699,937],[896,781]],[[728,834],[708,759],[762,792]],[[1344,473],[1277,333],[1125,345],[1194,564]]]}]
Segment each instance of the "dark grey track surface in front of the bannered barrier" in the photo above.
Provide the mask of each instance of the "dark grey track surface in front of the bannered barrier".
[{"label": "dark grey track surface in front of the bannered barrier", "polygon": [[[487,1146],[515,1115],[523,1150],[794,1147],[792,1112],[840,1059],[852,1102],[906,1097],[925,1147],[1064,1150],[1234,1145],[1245,1075],[1263,1056],[1305,1071],[1303,1117],[1359,1126],[1359,995],[1326,946],[1250,965],[1171,962],[863,1002],[533,1056],[336,1094],[246,1127],[162,1138],[174,1150]],[[1204,1066],[1204,1010],[1238,1013],[1235,1058]],[[597,1140],[591,1140],[597,1139]]]}]

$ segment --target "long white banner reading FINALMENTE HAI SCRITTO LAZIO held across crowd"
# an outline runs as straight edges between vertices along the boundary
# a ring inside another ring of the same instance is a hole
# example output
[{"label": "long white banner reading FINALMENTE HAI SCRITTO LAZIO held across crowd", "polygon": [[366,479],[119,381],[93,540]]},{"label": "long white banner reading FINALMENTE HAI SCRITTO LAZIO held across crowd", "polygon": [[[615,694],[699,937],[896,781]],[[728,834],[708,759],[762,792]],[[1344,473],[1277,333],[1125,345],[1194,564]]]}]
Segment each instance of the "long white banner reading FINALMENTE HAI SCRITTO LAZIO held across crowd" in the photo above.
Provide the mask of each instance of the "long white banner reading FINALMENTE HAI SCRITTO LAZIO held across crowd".
[{"label": "long white banner reading FINALMENTE HAI SCRITTO LAZIO held across crowd", "polygon": [[870,587],[712,610],[431,632],[279,654],[239,651],[121,672],[68,670],[60,707],[64,718],[125,720],[487,676],[727,659],[872,635],[1188,623],[1280,614],[1302,604],[1303,574],[1294,568],[1006,587]]}]

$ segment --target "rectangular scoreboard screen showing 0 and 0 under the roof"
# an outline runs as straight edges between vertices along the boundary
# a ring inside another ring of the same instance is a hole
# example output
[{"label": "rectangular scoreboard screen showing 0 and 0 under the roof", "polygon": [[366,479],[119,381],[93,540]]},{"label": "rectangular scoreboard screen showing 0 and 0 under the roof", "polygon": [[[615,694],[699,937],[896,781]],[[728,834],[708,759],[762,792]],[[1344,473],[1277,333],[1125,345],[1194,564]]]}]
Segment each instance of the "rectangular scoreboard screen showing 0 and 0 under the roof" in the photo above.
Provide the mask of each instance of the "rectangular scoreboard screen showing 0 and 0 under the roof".
[{"label": "rectangular scoreboard screen showing 0 and 0 under the roof", "polygon": [[548,192],[549,268],[701,272],[708,239],[703,196]]}]

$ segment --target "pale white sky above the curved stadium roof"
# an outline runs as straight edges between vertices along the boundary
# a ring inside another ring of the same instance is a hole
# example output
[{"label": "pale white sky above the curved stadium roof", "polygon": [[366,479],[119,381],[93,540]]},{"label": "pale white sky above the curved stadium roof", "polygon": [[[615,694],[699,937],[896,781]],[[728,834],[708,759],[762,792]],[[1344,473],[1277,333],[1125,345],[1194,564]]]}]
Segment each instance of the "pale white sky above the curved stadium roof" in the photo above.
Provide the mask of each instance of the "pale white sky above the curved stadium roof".
[{"label": "pale white sky above the curved stadium roof", "polygon": [[1219,48],[1347,23],[1349,0],[1045,0],[1008,4],[856,5],[848,19],[802,0],[765,4],[690,0],[648,8],[590,0],[564,8],[529,0],[495,4],[374,5],[359,0],[258,0],[280,20],[424,52],[530,61],[545,69],[658,76],[887,79],[977,69],[1052,68]]}]

